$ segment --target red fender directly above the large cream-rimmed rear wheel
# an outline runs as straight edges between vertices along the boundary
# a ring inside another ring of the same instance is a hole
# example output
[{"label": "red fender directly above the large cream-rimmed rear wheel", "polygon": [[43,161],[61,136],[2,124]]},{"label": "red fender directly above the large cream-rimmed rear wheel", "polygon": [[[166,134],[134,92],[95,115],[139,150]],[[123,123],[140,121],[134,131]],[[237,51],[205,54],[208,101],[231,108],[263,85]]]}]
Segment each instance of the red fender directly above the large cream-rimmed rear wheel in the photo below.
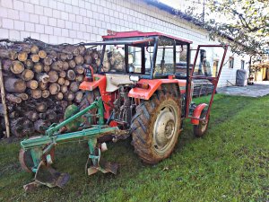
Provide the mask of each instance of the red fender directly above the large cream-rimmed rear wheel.
[{"label": "red fender directly above the large cream-rimmed rear wheel", "polygon": [[[131,98],[138,98],[138,99],[143,99],[143,100],[150,100],[152,97],[152,94],[161,88],[161,84],[163,83],[178,83],[180,92],[181,89],[186,88],[186,81],[181,81],[178,79],[153,79],[153,80],[148,80],[148,79],[141,79],[138,84],[148,84],[147,89],[143,89],[141,87],[134,87],[130,90],[128,93],[128,96]],[[182,93],[182,92],[181,92]]]}]

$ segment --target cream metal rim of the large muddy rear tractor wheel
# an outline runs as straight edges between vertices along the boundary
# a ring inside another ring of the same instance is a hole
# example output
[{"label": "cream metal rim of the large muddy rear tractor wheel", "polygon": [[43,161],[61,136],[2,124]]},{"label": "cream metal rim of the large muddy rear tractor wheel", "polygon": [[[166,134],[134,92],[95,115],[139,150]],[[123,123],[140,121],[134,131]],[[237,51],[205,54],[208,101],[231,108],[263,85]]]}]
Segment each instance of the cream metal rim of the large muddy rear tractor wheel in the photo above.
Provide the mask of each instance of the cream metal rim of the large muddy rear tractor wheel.
[{"label": "cream metal rim of the large muddy rear tractor wheel", "polygon": [[153,128],[153,145],[158,154],[166,154],[175,141],[178,117],[176,109],[168,105],[159,111]]}]

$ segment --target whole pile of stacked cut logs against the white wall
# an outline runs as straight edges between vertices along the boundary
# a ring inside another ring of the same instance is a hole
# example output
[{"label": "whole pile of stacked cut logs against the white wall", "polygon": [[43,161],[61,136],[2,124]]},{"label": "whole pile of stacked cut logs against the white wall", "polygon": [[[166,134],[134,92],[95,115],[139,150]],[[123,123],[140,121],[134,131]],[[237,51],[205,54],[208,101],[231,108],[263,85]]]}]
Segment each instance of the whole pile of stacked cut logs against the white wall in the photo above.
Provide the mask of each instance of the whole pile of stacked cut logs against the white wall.
[{"label": "whole pile of stacked cut logs against the white wall", "polygon": [[[44,132],[82,101],[84,68],[100,64],[100,53],[83,45],[49,45],[39,40],[0,45],[4,89],[13,136]],[[3,114],[0,122],[4,128]],[[1,131],[0,131],[1,136]]]}]

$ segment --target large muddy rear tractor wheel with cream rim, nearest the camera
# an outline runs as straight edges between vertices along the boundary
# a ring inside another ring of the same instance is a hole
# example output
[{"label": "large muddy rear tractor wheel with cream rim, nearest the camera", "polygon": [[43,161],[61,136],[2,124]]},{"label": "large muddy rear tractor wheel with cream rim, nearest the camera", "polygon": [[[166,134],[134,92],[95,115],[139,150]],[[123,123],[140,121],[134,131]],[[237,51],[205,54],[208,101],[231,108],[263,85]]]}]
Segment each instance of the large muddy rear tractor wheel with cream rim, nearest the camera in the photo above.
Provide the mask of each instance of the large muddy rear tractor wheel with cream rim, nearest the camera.
[{"label": "large muddy rear tractor wheel with cream rim, nearest the camera", "polygon": [[152,95],[151,100],[141,101],[136,107],[131,126],[134,152],[150,164],[168,158],[177,145],[180,125],[178,87],[162,88]]}]

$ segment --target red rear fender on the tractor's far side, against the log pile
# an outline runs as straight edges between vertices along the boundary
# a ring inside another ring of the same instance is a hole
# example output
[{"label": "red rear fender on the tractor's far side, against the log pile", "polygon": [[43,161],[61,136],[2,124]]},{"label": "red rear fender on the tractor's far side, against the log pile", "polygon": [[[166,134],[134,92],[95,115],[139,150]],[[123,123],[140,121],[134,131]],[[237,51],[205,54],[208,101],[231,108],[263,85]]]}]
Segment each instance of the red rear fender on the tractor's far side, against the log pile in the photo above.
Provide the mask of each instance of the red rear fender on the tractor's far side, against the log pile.
[{"label": "red rear fender on the tractor's far side, against the log pile", "polygon": [[80,90],[93,91],[99,87],[100,91],[105,91],[107,85],[107,79],[105,75],[93,75],[93,82],[83,81],[80,84]]}]

